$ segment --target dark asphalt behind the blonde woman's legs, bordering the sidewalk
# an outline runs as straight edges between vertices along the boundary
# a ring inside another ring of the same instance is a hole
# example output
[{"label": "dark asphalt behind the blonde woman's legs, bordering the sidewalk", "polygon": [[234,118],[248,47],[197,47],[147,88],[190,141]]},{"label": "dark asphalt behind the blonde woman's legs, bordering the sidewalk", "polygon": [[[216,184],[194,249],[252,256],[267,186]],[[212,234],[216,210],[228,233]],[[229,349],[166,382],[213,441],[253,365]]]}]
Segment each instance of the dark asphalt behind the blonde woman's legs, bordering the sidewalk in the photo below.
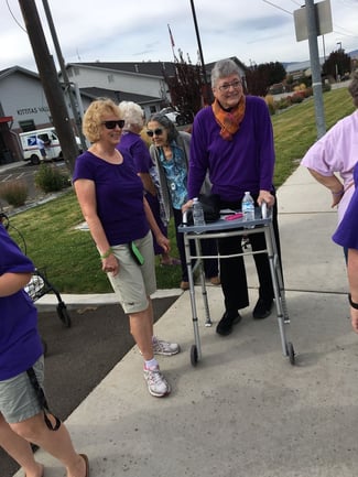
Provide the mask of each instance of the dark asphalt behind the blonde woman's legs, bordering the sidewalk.
[{"label": "dark asphalt behind the blonde woman's legs, bordering the sidewalk", "polygon": [[[175,296],[153,300],[155,321],[175,300]],[[69,315],[72,327],[66,328],[56,311],[39,314],[39,329],[47,344],[45,392],[50,409],[62,420],[134,345],[128,317],[119,305],[70,311]],[[148,392],[144,384],[143,392]],[[11,477],[18,469],[19,466],[0,448],[0,476]]]}]

